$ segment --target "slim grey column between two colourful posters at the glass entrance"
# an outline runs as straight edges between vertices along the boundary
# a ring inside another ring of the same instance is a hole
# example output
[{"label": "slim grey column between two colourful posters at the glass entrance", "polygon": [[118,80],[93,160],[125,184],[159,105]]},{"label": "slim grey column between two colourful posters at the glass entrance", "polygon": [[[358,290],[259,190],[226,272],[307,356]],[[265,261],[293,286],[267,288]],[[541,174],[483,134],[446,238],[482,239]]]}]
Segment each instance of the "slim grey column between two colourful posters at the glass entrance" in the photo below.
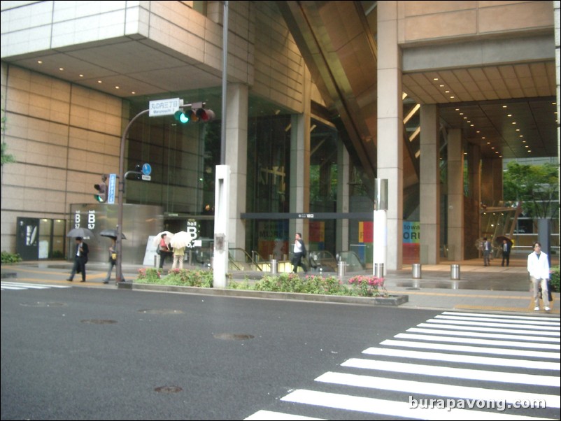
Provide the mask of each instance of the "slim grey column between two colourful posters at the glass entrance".
[{"label": "slim grey column between two colourful posters at the glass entrance", "polygon": [[[348,212],[349,181],[350,157],[343,142],[339,142],[337,145],[337,212]],[[337,220],[335,233],[336,251],[349,250],[348,234],[348,220]]]}]

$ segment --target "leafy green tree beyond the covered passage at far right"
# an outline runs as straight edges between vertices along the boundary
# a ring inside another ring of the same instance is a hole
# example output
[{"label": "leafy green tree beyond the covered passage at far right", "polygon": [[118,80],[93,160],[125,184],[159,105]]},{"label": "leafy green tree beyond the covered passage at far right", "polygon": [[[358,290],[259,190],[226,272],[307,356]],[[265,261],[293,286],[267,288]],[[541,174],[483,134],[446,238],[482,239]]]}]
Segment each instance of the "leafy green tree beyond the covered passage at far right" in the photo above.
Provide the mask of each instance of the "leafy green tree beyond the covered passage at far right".
[{"label": "leafy green tree beyond the covered passage at far right", "polygon": [[559,211],[558,166],[509,162],[503,175],[503,197],[523,201],[524,213],[533,219],[555,218]]}]

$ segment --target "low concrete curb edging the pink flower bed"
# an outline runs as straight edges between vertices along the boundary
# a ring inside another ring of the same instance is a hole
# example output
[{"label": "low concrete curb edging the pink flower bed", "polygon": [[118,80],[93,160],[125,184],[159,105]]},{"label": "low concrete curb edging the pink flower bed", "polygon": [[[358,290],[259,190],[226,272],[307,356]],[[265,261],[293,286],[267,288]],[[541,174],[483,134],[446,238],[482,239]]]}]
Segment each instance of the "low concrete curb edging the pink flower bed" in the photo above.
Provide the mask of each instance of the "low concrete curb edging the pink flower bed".
[{"label": "low concrete curb edging the pink flower bed", "polygon": [[246,297],[260,299],[316,301],[323,303],[362,304],[363,306],[399,306],[409,301],[409,295],[390,297],[347,297],[342,295],[301,294],[297,292],[269,292],[250,290],[229,290],[227,288],[182,287],[178,285],[157,285],[132,283],[133,290],[182,292],[183,294],[217,295],[220,297]]}]

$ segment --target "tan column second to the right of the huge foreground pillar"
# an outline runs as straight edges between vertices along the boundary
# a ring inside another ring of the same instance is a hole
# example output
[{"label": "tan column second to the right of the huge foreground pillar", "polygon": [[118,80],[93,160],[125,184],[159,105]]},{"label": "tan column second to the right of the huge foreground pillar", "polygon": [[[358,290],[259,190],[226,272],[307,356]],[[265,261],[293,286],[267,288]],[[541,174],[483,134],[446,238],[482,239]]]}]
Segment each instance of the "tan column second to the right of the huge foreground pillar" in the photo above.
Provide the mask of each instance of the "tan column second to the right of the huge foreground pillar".
[{"label": "tan column second to the right of the huge foreground pillar", "polygon": [[448,260],[464,258],[464,155],[462,131],[448,133]]}]

